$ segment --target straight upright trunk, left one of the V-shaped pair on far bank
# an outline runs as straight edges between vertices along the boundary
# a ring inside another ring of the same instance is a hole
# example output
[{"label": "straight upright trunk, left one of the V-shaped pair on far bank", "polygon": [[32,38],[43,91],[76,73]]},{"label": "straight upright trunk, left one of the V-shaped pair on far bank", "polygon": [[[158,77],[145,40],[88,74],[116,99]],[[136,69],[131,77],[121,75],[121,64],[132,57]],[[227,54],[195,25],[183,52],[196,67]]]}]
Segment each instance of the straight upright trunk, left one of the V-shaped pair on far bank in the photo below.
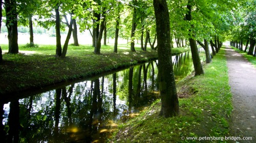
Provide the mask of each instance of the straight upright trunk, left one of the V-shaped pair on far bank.
[{"label": "straight upright trunk, left one of the V-shaped pair on far bank", "polygon": [[[57,4],[59,5],[59,4]],[[61,56],[61,36],[60,36],[60,17],[59,17],[59,6],[57,7],[57,9],[55,9],[55,13],[56,13],[56,20],[55,20],[55,29],[56,29],[56,56]]]}]

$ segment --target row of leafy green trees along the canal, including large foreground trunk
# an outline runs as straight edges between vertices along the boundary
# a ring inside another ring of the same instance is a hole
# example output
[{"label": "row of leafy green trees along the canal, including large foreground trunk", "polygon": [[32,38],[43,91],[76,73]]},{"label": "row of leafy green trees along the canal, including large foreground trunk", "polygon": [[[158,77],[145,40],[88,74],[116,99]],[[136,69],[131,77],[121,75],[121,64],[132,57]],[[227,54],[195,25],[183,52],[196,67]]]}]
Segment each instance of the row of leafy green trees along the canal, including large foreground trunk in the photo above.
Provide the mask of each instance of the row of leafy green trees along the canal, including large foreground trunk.
[{"label": "row of leafy green trees along the canal, including large foreground trunk", "polygon": [[[161,113],[165,117],[175,116],[179,106],[174,75],[170,70],[173,69],[172,60],[169,58],[171,47],[173,47],[172,39],[176,39],[178,46],[183,43],[181,41],[184,39],[189,41],[195,75],[204,74],[197,42],[205,49],[206,62],[209,63],[211,55],[208,43],[210,43],[212,55],[218,53],[222,45],[221,41],[227,38],[230,29],[237,27],[233,23],[241,19],[240,10],[246,9],[253,12],[254,3],[252,0],[239,2],[234,0],[174,0],[168,2],[159,0],[5,0],[9,53],[18,53],[18,21],[20,23],[29,21],[30,41],[33,42],[32,16],[36,17],[35,20],[41,26],[55,26],[56,56],[61,57],[66,56],[71,34],[73,33],[73,36],[77,34],[76,23],[79,24],[80,31],[90,30],[95,54],[100,54],[101,39],[103,35],[106,37],[108,30],[113,29],[115,33],[114,52],[117,52],[119,32],[131,35],[131,51],[136,51],[134,40],[136,35],[140,36],[141,50],[146,50],[147,43],[150,43],[152,49],[158,50],[159,75],[161,76],[159,82],[162,95]],[[251,6],[251,9],[247,9],[248,6]],[[65,19],[64,22],[61,22],[62,17]],[[62,48],[60,30],[65,25],[68,26],[69,31]],[[154,40],[151,37],[154,37]],[[156,39],[157,46],[154,45]],[[168,106],[169,103],[172,105]]]}]

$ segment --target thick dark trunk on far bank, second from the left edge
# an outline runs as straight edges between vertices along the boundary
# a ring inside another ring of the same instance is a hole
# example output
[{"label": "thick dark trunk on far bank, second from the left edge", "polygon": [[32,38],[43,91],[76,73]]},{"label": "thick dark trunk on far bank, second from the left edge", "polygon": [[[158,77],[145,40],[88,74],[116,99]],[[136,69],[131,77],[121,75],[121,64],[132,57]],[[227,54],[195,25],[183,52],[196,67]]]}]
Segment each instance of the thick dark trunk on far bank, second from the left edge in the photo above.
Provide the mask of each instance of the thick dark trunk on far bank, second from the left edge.
[{"label": "thick dark trunk on far bank, second from the left edge", "polygon": [[[18,22],[16,1],[5,0],[6,25],[8,30],[9,51],[18,53]],[[12,24],[10,24],[12,23]]]}]

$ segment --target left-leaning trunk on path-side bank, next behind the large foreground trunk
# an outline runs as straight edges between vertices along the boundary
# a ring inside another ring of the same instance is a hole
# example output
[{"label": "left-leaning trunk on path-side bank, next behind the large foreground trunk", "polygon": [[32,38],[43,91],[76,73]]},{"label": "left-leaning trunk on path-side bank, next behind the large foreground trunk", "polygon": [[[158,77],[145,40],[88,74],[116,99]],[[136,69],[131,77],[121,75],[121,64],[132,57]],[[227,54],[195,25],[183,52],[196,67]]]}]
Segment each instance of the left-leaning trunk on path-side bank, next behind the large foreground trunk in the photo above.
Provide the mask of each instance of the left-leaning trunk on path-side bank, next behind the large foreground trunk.
[{"label": "left-leaning trunk on path-side bank, next behind the large foreground trunk", "polygon": [[[191,1],[188,1],[187,9],[188,13],[186,14],[186,20],[190,21],[192,20],[192,15],[191,15],[191,8],[192,6],[190,5]],[[191,28],[194,28],[194,25],[191,25]],[[193,65],[195,69],[195,76],[204,74],[203,67],[201,65],[199,53],[198,53],[198,48],[197,48],[197,42],[196,42],[196,36],[194,33],[191,33],[191,30],[189,29],[189,35],[190,37],[194,38],[189,38],[189,44],[190,44],[190,49],[191,49],[191,54],[192,54],[192,60],[193,60]]]}]

